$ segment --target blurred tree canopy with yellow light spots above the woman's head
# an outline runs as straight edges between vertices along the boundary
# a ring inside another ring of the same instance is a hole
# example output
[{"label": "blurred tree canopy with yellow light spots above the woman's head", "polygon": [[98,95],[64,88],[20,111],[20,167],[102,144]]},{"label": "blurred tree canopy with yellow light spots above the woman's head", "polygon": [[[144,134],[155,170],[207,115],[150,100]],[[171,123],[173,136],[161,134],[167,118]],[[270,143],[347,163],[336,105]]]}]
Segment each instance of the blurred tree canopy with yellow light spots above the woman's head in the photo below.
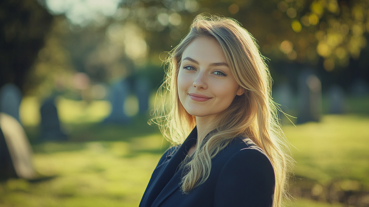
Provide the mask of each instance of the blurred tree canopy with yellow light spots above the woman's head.
[{"label": "blurred tree canopy with yellow light spots above the woman's head", "polygon": [[335,65],[346,67],[350,57],[359,58],[366,46],[363,35],[369,31],[368,0],[156,2],[125,1],[119,10],[123,14],[118,15],[118,19],[124,16],[124,22],[134,21],[144,28],[150,34],[148,45],[155,52],[177,45],[193,16],[207,12],[238,20],[268,57],[315,65],[320,56],[324,68],[331,71]]}]

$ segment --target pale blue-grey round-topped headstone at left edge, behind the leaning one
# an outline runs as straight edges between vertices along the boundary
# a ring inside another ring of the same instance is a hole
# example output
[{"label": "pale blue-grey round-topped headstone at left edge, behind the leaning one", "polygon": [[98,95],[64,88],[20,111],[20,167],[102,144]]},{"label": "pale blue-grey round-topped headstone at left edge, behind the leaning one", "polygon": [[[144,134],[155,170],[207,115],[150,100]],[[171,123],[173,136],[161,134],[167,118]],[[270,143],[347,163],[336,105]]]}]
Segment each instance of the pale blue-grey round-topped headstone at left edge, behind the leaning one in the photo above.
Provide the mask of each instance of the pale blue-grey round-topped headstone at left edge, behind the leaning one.
[{"label": "pale blue-grey round-topped headstone at left edge, behind the leaning one", "polygon": [[14,84],[5,84],[0,90],[0,112],[13,116],[19,122],[22,93]]}]

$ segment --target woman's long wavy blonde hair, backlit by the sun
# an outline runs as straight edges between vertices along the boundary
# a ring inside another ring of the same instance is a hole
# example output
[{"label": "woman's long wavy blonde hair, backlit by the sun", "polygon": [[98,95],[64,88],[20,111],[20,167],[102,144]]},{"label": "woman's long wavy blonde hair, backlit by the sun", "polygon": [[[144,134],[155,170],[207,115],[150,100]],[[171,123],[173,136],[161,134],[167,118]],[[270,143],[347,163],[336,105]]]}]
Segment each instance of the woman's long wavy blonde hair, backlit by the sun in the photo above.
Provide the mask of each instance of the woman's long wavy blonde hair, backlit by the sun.
[{"label": "woman's long wavy blonde hair, backlit by the sun", "polygon": [[166,59],[166,77],[157,93],[157,98],[163,101],[156,107],[151,121],[159,126],[169,142],[177,145],[183,143],[196,125],[195,117],[187,113],[179,101],[177,76],[184,49],[198,37],[218,42],[244,94],[236,96],[229,108],[216,118],[209,128],[216,129],[215,132],[197,143],[196,152],[185,166],[188,170],[182,179],[182,191],[188,193],[204,183],[210,174],[211,159],[235,137],[246,136],[264,150],[273,164],[276,181],[273,206],[279,207],[283,197],[288,199],[287,178],[292,159],[286,153],[289,147],[271,98],[269,69],[254,38],[237,21],[202,14],[195,17],[189,34]]}]

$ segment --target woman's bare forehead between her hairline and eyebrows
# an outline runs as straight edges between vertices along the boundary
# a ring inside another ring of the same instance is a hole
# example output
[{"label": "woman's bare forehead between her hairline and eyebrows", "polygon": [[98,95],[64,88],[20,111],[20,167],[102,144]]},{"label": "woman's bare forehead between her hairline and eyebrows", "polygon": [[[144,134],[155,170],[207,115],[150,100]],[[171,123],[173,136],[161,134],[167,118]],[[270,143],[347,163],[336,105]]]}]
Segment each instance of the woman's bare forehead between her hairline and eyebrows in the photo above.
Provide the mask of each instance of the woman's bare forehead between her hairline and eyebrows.
[{"label": "woman's bare forehead between her hairline and eyebrows", "polygon": [[213,62],[227,62],[218,42],[213,38],[198,37],[184,49],[183,58],[190,57],[200,64]]}]

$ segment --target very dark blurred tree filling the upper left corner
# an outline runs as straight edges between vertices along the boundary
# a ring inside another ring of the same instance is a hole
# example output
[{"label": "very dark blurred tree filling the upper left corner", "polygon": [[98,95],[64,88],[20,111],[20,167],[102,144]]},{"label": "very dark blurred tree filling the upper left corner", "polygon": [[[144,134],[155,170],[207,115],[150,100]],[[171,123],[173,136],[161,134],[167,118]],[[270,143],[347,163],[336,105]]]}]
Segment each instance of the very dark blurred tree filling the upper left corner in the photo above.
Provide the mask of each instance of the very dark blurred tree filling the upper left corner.
[{"label": "very dark blurred tree filling the upper left corner", "polygon": [[0,2],[0,87],[12,82],[27,91],[25,76],[44,46],[52,19],[36,0]]}]

